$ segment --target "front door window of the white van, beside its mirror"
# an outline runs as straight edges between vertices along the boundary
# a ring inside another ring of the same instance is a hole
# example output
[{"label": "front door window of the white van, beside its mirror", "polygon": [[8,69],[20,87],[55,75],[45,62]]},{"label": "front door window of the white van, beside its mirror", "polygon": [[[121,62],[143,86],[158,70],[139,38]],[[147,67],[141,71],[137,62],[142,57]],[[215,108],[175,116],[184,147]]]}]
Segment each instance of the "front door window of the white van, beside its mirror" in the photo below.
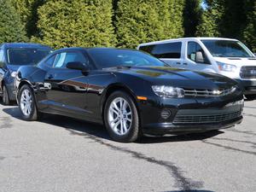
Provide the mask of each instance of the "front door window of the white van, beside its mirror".
[{"label": "front door window of the white van, beside its mirror", "polygon": [[210,64],[205,51],[201,48],[201,45],[196,42],[188,43],[187,57],[189,60],[195,61],[196,63]]}]

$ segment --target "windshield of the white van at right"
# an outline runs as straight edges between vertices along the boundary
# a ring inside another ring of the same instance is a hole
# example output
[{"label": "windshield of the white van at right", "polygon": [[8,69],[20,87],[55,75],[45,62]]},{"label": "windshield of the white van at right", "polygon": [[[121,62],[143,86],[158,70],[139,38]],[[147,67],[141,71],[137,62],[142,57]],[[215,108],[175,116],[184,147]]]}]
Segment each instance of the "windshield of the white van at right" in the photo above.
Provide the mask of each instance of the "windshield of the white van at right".
[{"label": "windshield of the white van at right", "polygon": [[217,57],[253,57],[244,44],[229,40],[202,40],[212,56]]}]

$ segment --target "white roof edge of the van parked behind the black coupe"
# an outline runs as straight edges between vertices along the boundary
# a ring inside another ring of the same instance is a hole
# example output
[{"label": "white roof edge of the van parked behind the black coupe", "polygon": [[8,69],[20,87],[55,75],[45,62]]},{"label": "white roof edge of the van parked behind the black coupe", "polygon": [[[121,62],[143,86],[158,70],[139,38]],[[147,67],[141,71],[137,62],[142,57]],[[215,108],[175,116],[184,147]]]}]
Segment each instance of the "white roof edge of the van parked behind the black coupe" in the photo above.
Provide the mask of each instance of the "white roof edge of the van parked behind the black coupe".
[{"label": "white roof edge of the van parked behind the black coupe", "polygon": [[235,38],[170,38],[166,40],[161,41],[154,41],[154,42],[148,42],[144,44],[139,44],[138,46],[144,46],[144,45],[150,45],[150,44],[163,44],[163,43],[171,43],[171,42],[177,42],[177,41],[183,41],[183,40],[227,40],[227,41],[238,41]]}]

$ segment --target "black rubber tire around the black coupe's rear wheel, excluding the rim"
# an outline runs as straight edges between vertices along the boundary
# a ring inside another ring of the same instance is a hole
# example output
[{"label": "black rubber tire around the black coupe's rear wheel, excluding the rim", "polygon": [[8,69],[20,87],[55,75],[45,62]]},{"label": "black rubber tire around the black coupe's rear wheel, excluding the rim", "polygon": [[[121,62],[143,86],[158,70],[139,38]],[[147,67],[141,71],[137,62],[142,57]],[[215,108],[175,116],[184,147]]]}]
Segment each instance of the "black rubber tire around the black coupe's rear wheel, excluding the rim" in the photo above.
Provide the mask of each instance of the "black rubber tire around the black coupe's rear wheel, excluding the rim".
[{"label": "black rubber tire around the black coupe's rear wheel, excluding the rim", "polygon": [[[23,91],[29,91],[30,95],[31,95],[31,113],[29,114],[26,114],[26,113],[23,113],[22,111],[22,101],[21,101],[21,96],[22,96],[22,93]],[[37,120],[38,117],[39,117],[39,113],[38,113],[38,108],[37,108],[37,105],[36,105],[36,100],[35,100],[35,97],[34,97],[34,94],[33,94],[33,90],[32,88],[28,85],[28,84],[24,84],[20,90],[19,90],[19,96],[18,96],[18,99],[19,99],[19,108],[20,108],[20,113],[21,113],[21,117],[22,119],[24,120],[27,120],[27,121],[34,121],[34,120]]]}]

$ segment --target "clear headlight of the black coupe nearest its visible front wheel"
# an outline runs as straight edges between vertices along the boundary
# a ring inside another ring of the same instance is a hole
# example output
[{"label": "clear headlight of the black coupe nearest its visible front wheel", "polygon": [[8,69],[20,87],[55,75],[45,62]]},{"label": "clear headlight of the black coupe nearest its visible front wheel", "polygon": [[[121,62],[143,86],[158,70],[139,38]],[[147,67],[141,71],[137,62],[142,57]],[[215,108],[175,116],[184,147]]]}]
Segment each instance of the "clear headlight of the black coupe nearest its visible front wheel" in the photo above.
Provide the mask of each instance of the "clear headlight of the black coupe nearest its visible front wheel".
[{"label": "clear headlight of the black coupe nearest its visible front wheel", "polygon": [[170,97],[182,98],[182,97],[184,97],[184,90],[182,88],[178,88],[178,87],[165,86],[165,85],[154,85],[154,86],[152,86],[152,90],[154,90],[154,93],[160,97],[167,97],[167,98],[170,98]]}]

